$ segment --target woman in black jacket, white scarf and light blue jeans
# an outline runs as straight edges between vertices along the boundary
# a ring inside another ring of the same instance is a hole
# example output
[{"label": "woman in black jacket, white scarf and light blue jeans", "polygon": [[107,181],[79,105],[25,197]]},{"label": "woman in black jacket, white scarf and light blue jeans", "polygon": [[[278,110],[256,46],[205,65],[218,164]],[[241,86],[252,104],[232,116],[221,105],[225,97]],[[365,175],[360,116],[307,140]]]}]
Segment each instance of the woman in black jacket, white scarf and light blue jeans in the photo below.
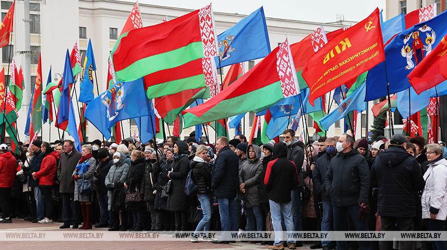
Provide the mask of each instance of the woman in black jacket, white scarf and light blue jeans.
[{"label": "woman in black jacket, white scarf and light blue jeans", "polygon": [[[196,156],[191,161],[192,179],[197,185],[197,198],[202,208],[203,218],[197,224],[194,233],[208,233],[211,228],[211,213],[213,210],[213,195],[211,194],[211,171],[205,160],[208,156],[208,149],[204,145],[197,147]],[[194,237],[192,242],[198,242]]]}]

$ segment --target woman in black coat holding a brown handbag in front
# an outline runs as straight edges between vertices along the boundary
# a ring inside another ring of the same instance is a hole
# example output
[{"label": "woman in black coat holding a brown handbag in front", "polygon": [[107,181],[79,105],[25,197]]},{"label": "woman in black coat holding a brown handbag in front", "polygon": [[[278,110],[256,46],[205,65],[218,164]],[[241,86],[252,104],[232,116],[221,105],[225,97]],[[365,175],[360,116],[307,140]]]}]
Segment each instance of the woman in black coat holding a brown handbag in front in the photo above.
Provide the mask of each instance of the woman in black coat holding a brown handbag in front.
[{"label": "woman in black coat holding a brown handbag in front", "polygon": [[[141,182],[143,181],[144,174],[144,154],[140,150],[132,151],[131,155],[131,167],[127,175],[127,181],[124,183],[124,187],[127,188],[128,193],[139,192]],[[126,204],[127,209],[132,212],[134,226],[128,231],[141,231],[142,226],[142,211],[143,202],[135,202]]]}]

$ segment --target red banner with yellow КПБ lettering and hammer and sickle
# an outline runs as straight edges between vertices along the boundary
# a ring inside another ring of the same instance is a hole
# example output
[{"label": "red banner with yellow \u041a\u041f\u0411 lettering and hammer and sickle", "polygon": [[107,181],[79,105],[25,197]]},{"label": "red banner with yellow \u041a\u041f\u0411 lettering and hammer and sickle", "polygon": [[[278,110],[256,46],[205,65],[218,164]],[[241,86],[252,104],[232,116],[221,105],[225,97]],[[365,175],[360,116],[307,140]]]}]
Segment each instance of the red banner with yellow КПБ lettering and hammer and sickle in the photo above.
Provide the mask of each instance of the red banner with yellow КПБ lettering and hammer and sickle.
[{"label": "red banner with yellow \u041a\u041f\u0411 lettering and hammer and sickle", "polygon": [[309,58],[302,76],[310,88],[309,102],[357,78],[385,60],[379,9],[330,40]]}]

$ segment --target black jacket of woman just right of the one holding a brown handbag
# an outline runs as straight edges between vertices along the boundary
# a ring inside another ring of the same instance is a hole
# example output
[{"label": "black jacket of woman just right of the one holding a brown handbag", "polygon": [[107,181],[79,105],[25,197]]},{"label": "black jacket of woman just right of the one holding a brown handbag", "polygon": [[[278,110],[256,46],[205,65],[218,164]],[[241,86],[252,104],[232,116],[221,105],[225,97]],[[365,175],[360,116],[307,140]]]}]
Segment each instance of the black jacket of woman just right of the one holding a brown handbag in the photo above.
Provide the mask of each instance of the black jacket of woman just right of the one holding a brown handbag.
[{"label": "black jacket of woman just right of the one holding a brown handbag", "polygon": [[[144,202],[154,202],[155,194],[154,190],[157,187],[158,174],[160,173],[160,167],[158,163],[152,164],[151,159],[145,159],[146,168],[143,174],[143,182],[141,182],[140,193],[143,195]],[[162,160],[160,160],[160,164]]]}]

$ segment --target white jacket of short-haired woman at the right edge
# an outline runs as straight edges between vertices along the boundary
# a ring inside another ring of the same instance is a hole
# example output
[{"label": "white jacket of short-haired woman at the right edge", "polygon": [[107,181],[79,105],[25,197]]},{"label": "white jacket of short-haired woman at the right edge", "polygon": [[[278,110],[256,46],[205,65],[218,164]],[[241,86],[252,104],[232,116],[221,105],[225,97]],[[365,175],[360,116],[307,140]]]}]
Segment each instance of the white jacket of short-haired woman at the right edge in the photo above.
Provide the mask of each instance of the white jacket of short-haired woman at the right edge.
[{"label": "white jacket of short-haired woman at the right edge", "polygon": [[429,163],[424,173],[422,219],[430,219],[430,213],[436,215],[436,220],[447,218],[447,160],[441,157]]}]

